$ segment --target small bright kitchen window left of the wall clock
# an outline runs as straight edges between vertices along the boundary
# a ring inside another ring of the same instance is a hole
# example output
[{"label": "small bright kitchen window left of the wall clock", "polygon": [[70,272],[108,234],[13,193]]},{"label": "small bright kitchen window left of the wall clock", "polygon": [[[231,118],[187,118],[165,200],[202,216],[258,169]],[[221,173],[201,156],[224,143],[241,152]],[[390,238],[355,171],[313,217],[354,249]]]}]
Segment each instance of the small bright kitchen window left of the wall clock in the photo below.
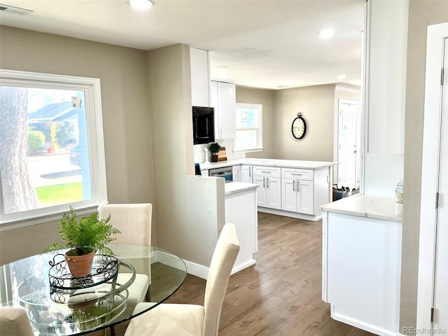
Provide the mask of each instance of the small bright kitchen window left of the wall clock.
[{"label": "small bright kitchen window left of the wall clock", "polygon": [[262,146],[262,105],[237,103],[234,151],[261,151]]}]

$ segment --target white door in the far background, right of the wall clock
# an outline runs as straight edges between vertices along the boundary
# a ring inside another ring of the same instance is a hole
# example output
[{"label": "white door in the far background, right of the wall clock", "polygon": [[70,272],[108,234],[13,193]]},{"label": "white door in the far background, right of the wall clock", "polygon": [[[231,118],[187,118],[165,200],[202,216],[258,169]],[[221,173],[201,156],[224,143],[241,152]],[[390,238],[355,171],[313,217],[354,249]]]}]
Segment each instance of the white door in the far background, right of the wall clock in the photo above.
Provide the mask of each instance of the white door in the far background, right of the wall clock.
[{"label": "white door in the far background, right of the wall clock", "polygon": [[356,188],[356,166],[358,150],[356,134],[358,125],[358,102],[339,99],[339,144],[337,161],[337,183]]}]

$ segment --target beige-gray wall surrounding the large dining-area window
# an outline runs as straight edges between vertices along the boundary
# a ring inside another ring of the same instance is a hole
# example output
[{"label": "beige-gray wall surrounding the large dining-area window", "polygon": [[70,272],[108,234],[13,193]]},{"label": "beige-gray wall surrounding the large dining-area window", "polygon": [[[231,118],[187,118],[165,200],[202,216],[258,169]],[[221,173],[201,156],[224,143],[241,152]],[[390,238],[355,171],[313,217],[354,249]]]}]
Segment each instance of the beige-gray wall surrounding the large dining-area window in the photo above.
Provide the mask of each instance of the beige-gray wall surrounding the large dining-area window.
[{"label": "beige-gray wall surrounding the large dining-area window", "polygon": [[[0,50],[1,69],[100,78],[109,202],[155,202],[146,52],[4,26]],[[58,239],[57,222],[3,231],[0,264]]]}]

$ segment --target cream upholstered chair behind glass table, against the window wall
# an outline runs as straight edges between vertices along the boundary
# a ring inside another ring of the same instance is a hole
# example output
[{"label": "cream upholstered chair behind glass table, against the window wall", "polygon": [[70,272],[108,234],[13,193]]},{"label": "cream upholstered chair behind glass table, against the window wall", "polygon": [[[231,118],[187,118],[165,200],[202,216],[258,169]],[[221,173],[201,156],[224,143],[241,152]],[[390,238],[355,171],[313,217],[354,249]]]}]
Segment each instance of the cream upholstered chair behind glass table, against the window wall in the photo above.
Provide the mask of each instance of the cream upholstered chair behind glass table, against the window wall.
[{"label": "cream upholstered chair behind glass table, against the window wall", "polygon": [[[137,244],[151,246],[151,217],[153,205],[150,203],[139,204],[100,204],[98,215],[100,219],[111,216],[109,224],[120,230],[120,234],[114,235],[113,244]],[[139,302],[143,302],[148,293],[151,279],[149,277],[151,265],[144,265],[146,269],[136,267],[136,278],[128,288],[127,309],[134,309]],[[148,274],[148,275],[147,275]],[[130,273],[119,273],[118,283],[125,283],[130,279]]]}]

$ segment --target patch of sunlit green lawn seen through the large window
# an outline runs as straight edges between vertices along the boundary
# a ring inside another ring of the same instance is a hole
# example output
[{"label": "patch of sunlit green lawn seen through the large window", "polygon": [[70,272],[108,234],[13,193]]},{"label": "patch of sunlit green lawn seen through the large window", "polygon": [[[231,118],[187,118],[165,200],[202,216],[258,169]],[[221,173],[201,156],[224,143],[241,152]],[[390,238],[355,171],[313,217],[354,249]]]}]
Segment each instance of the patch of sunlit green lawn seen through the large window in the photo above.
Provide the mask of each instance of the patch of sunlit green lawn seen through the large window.
[{"label": "patch of sunlit green lawn seen through the large window", "polygon": [[83,200],[83,185],[81,182],[57,184],[36,188],[41,205],[54,205]]}]

